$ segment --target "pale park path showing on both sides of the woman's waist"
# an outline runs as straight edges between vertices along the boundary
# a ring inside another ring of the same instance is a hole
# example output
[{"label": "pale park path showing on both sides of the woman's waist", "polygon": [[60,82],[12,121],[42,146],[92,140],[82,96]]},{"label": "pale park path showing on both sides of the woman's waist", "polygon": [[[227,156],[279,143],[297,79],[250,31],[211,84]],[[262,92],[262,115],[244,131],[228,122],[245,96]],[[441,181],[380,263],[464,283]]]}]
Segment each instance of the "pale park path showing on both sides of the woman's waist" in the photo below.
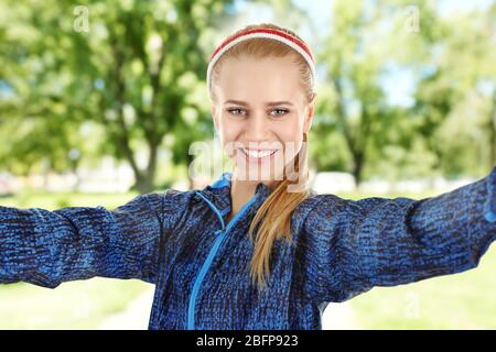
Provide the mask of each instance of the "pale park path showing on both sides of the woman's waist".
[{"label": "pale park path showing on both sides of the woman's waist", "polygon": [[[147,288],[121,312],[105,319],[99,330],[147,330],[153,300],[153,287]],[[322,316],[322,330],[356,330],[358,324],[349,302],[330,302]]]}]

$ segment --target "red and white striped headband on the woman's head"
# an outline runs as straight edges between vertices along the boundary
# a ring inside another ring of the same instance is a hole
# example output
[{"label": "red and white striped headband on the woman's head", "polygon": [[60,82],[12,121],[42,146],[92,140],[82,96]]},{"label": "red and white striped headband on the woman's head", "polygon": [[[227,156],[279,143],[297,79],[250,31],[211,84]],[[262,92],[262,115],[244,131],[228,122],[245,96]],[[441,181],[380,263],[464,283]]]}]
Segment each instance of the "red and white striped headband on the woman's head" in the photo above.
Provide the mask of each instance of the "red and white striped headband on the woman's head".
[{"label": "red and white striped headband on the woman's head", "polygon": [[292,47],[298,53],[303,56],[303,58],[306,61],[306,63],[310,66],[310,69],[312,72],[313,81],[315,81],[315,64],[313,61],[313,55],[310,50],[310,46],[308,46],[304,42],[300,41],[298,37],[294,37],[291,34],[288,34],[283,31],[279,30],[271,30],[271,29],[256,29],[256,30],[247,30],[242,31],[241,33],[238,33],[236,35],[229,36],[227,40],[225,40],[212,54],[211,62],[208,63],[207,68],[207,85],[208,85],[208,95],[211,95],[212,90],[212,82],[211,82],[211,75],[212,70],[217,63],[217,61],[223,56],[224,53],[226,53],[229,48],[235,46],[236,44],[247,41],[254,37],[265,37],[270,40],[276,40],[279,42],[284,43],[285,45]]}]

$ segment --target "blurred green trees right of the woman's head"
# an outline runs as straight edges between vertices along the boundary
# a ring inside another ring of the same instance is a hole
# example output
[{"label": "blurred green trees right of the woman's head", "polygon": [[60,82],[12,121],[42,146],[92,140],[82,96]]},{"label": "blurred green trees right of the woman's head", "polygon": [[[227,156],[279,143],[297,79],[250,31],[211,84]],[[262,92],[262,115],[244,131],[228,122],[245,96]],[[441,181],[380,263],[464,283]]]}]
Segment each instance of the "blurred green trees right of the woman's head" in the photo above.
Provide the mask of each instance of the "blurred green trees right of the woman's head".
[{"label": "blurred green trees right of the woman's head", "polygon": [[[325,68],[313,129],[317,168],[351,172],[357,184],[379,170],[484,173],[486,164],[470,155],[494,151],[494,3],[457,15],[423,0],[336,1],[330,11],[317,54]],[[384,82],[401,73],[412,77],[408,103],[391,102],[397,87]],[[454,131],[464,106],[475,118]]]}]

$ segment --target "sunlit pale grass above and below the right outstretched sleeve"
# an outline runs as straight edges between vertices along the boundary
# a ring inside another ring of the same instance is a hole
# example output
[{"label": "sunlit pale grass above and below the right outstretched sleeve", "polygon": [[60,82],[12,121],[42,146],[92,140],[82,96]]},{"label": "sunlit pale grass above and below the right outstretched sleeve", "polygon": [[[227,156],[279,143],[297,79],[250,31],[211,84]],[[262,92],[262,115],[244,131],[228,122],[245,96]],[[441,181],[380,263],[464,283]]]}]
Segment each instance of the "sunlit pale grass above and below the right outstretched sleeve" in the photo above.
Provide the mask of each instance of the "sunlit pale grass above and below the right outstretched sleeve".
[{"label": "sunlit pale grass above and below the right outstretched sleeve", "polygon": [[[424,198],[395,194],[388,198]],[[339,195],[359,199],[374,195]],[[408,285],[375,287],[349,301],[359,329],[496,329],[496,245],[476,268]]]}]

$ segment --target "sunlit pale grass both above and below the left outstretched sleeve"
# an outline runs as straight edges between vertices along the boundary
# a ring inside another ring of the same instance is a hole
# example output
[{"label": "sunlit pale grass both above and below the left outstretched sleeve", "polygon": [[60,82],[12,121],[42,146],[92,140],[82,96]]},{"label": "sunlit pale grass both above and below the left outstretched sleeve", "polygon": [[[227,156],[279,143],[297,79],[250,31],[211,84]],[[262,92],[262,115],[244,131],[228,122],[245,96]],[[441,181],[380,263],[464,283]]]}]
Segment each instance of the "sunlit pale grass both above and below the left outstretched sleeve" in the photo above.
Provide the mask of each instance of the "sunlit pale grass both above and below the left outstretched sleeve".
[{"label": "sunlit pale grass both above and below the left outstretched sleeve", "polygon": [[[0,205],[57,209],[125,205],[136,194],[23,193],[0,198]],[[109,316],[122,311],[150,284],[137,279],[96,277],[63,283],[55,289],[25,283],[0,285],[0,329],[97,329]]]}]

